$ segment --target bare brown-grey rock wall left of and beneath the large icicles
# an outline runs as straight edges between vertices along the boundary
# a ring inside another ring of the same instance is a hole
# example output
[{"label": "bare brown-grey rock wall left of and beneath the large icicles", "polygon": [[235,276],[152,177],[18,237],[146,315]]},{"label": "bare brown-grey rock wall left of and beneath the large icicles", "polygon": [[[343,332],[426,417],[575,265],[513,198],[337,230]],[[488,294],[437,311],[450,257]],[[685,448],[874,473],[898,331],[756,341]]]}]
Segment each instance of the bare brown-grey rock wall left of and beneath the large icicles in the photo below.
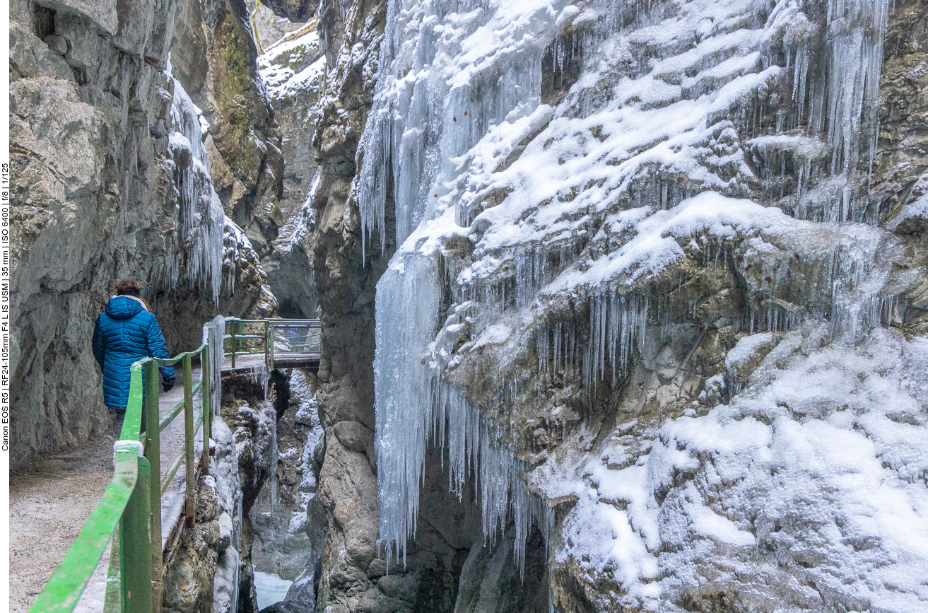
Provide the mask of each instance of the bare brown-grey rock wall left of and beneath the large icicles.
[{"label": "bare brown-grey rock wall left of and beneath the large icicles", "polygon": [[[325,522],[316,610],[483,610],[474,608],[483,603],[479,593],[493,586],[498,594],[494,610],[542,611],[547,605],[532,599],[546,591],[547,576],[538,567],[543,541],[533,542],[533,572],[524,582],[518,567],[507,564],[509,550],[488,554],[477,506],[467,493],[460,500],[446,488],[440,452],[429,456],[423,515],[405,560],[391,559],[388,572],[384,553],[378,551],[370,365],[375,285],[392,254],[393,239],[388,232],[382,252],[376,240],[366,252],[362,249],[356,174],[365,155],[358,143],[370,110],[385,9],[385,3],[324,3],[318,16],[328,63],[314,141],[319,177],[311,192],[323,320],[317,398],[325,429],[316,498]],[[456,605],[460,590],[466,595]]]}]

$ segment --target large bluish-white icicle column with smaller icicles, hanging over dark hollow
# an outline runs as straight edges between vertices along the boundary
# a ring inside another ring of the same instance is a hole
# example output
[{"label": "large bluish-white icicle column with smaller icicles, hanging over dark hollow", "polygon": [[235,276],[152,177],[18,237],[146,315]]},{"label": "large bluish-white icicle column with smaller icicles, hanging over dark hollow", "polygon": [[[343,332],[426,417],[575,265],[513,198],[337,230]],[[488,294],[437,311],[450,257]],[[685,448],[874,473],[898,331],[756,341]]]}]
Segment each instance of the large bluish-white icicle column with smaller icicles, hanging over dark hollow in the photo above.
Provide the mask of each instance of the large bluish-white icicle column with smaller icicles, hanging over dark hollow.
[{"label": "large bluish-white icicle column with smaller icicles, hanging over dark hollow", "polygon": [[546,529],[540,500],[529,495],[521,478],[523,463],[514,458],[503,435],[481,419],[480,408],[434,369],[434,335],[441,288],[432,261],[412,254],[403,274],[385,273],[377,293],[376,417],[380,539],[387,556],[406,555],[406,539],[416,532],[419,485],[429,445],[447,449],[449,487],[461,496],[474,476],[483,510],[483,535],[497,533],[514,519],[515,556],[524,564],[525,539],[533,524]]}]

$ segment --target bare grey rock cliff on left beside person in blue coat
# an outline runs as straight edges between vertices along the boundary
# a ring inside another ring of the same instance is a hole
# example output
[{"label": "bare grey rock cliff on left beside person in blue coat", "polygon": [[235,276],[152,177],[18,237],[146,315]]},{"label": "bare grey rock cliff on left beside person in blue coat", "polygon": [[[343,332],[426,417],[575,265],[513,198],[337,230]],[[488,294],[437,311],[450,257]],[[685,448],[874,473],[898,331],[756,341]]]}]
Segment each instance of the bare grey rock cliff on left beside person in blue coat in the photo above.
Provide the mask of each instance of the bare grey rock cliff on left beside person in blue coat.
[{"label": "bare grey rock cliff on left beside person in blue coat", "polygon": [[[143,295],[156,307],[172,352],[198,345],[202,321],[217,310],[276,312],[258,255],[231,230],[224,272],[213,271],[226,277],[218,305],[208,289],[184,281],[195,280],[196,273],[180,274],[182,282],[175,283],[177,267],[191,261],[179,182],[191,159],[188,150],[169,144],[169,134],[181,129],[172,119],[172,48],[203,51],[197,62],[181,62],[178,76],[198,88],[210,76],[219,84],[210,91],[226,96],[218,97],[226,100],[219,111],[208,101],[202,108],[217,117],[208,148],[225,149],[231,160],[226,166],[232,170],[219,164],[214,175],[238,177],[241,194],[233,198],[231,179],[213,183],[226,195],[229,212],[238,211],[241,225],[258,223],[251,202],[278,187],[282,176],[279,137],[254,55],[229,47],[247,47],[251,39],[235,33],[242,26],[232,8],[227,16],[224,10],[207,11],[215,26],[206,29],[207,41],[199,4],[49,1],[10,7],[14,463],[36,451],[78,444],[106,427],[90,337],[115,280],[143,281]],[[196,27],[190,25],[194,17]],[[203,61],[206,49],[213,63],[226,62],[222,74]],[[264,227],[271,235],[261,241],[276,238],[273,224]],[[213,239],[222,267],[221,221]]]}]

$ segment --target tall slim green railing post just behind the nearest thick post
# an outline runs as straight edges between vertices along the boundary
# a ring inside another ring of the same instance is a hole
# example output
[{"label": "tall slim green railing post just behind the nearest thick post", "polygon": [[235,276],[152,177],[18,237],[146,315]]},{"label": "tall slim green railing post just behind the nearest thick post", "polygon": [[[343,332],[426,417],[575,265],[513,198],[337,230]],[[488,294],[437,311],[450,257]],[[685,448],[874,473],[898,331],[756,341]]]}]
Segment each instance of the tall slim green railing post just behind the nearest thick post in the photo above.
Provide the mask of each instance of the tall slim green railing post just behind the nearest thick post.
[{"label": "tall slim green railing post just behind the nearest thick post", "polygon": [[158,386],[158,363],[149,359],[145,364],[145,456],[148,458],[148,515],[151,524],[151,589],[154,610],[161,611],[161,592],[164,589],[161,567],[161,410]]}]

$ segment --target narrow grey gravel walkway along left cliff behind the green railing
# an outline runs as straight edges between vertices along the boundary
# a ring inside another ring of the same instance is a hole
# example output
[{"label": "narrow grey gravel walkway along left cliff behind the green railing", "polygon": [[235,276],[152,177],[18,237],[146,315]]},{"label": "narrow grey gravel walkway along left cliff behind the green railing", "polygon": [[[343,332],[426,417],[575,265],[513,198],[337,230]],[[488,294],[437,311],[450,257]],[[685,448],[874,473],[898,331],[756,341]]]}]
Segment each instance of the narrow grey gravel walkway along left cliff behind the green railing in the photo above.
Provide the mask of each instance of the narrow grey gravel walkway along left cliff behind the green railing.
[{"label": "narrow grey gravel walkway along left cliff behind the green railing", "polygon": [[[238,366],[238,360],[236,365]],[[228,370],[230,365],[224,365],[223,372]],[[200,380],[199,366],[192,370],[192,379],[194,385]],[[193,398],[196,416],[201,407],[200,392],[194,394]],[[161,417],[166,416],[183,399],[184,385],[178,378],[174,389],[167,394],[161,393]],[[35,598],[45,588],[45,583],[77,539],[87,517],[97,506],[112,479],[112,447],[115,439],[116,433],[110,431],[102,437],[88,441],[78,450],[46,455],[30,468],[10,474],[10,611],[29,611]],[[183,448],[182,412],[161,433],[162,479]],[[161,499],[161,530],[165,536],[176,517],[180,515],[184,488],[184,465],[181,464],[171,487]],[[76,610],[101,610],[109,559],[108,547]]]}]

